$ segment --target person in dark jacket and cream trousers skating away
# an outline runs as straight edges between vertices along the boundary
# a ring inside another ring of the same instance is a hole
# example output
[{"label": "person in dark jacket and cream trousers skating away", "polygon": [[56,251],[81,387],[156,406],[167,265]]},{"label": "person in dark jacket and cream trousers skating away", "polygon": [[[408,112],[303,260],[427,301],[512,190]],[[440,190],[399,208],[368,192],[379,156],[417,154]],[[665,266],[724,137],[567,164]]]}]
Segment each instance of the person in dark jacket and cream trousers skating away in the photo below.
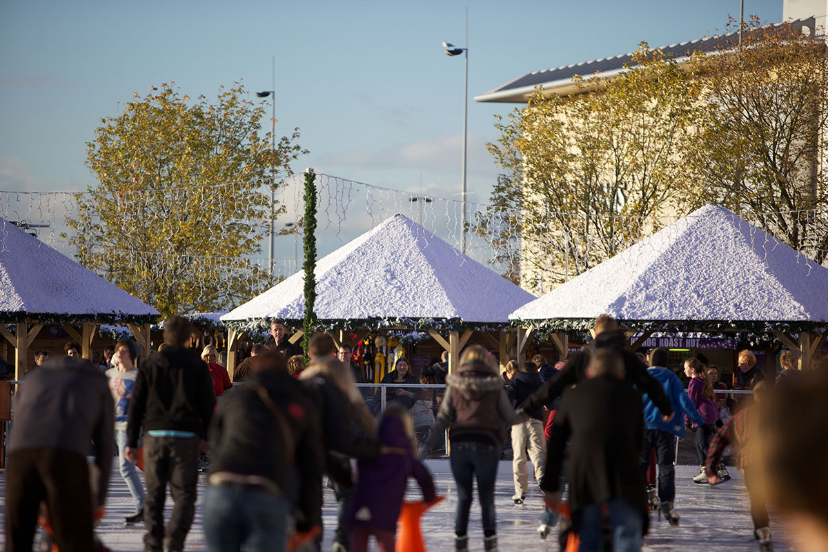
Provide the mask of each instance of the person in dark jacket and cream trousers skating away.
[{"label": "person in dark jacket and cream trousers skating away", "polygon": [[[523,401],[543,385],[534,362],[525,362],[519,367],[515,377],[506,386],[512,406],[522,408]],[[539,482],[546,471],[546,438],[543,436],[543,410],[534,408],[525,410],[528,419],[512,426],[512,473],[515,493],[512,500],[516,505],[526,499],[529,474],[526,468],[527,449],[532,458],[535,479]]]}]

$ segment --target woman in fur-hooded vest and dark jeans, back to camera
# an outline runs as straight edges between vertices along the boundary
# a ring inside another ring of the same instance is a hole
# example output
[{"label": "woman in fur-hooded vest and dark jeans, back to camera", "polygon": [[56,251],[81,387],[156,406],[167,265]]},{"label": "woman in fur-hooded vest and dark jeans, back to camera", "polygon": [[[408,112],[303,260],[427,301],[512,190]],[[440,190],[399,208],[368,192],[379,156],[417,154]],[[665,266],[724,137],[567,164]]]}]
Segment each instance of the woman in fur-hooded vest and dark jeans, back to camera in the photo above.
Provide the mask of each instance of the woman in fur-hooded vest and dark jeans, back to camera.
[{"label": "woman in fur-hooded vest and dark jeans, back to camera", "polygon": [[420,449],[420,458],[431,450],[446,428],[451,428],[449,459],[457,483],[455,550],[469,549],[467,531],[475,476],[483,515],[484,547],[489,552],[498,550],[494,482],[498,476],[500,449],[506,439],[504,428],[525,421],[526,415],[513,410],[497,365],[479,345],[465,349],[460,367],[445,378],[445,383],[448,387],[436,422]]}]

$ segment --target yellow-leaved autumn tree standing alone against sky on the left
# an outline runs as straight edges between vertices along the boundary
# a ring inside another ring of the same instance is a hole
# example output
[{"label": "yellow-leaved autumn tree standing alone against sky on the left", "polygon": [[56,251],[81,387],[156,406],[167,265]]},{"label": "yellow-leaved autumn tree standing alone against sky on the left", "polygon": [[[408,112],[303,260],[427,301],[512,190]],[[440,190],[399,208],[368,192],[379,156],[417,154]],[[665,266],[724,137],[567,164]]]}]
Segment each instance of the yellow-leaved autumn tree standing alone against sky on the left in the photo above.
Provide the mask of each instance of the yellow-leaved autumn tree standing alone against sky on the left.
[{"label": "yellow-leaved autumn tree standing alone against sky on the left", "polygon": [[134,97],[87,144],[98,183],[69,221],[79,262],[165,316],[249,299],[270,284],[269,267],[250,259],[282,209],[270,201],[272,168],[289,174],[306,153],[298,129],[272,149],[265,107],[239,83],[215,103],[175,83]]}]

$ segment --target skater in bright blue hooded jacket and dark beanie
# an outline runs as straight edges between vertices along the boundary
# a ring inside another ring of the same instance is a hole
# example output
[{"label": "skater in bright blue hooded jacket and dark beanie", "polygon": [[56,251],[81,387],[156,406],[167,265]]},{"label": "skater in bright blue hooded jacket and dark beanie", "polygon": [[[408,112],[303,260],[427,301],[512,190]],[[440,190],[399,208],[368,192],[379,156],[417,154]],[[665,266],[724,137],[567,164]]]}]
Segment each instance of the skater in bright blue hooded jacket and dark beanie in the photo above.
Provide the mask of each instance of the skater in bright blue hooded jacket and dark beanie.
[{"label": "skater in bright blue hooded jacket and dark beanie", "polygon": [[[650,461],[650,454],[655,449],[658,466],[657,502],[660,503],[660,508],[665,519],[671,525],[678,525],[679,516],[674,506],[676,499],[676,472],[673,467],[673,455],[676,450],[676,437],[679,439],[684,437],[685,425],[681,416],[686,415],[697,425],[703,425],[704,419],[699,414],[699,411],[696,410],[696,405],[693,404],[690,396],[687,395],[684,386],[681,385],[681,380],[667,367],[670,359],[667,349],[653,349],[649,354],[649,359],[650,368],[647,372],[662,384],[667,398],[670,399],[673,411],[676,412],[676,416],[669,422],[664,421],[661,412],[652,403],[650,397],[647,395],[643,396],[644,435],[640,463],[643,472],[646,473]],[[652,489],[651,493],[655,495],[656,489]],[[650,497],[647,497],[647,502],[650,501]]]}]

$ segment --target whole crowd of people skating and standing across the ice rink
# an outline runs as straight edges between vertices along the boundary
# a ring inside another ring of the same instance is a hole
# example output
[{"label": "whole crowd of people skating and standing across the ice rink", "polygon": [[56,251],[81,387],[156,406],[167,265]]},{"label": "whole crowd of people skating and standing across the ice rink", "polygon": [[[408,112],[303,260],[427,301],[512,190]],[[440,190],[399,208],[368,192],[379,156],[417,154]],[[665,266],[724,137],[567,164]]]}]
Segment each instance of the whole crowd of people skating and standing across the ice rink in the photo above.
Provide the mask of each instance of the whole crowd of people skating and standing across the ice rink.
[{"label": "whole crowd of people skating and standing across the ice rink", "polygon": [[[734,401],[715,395],[719,370],[706,359],[683,363],[685,389],[666,349],[639,358],[615,320],[602,316],[593,341],[555,366],[536,355],[507,362],[501,374],[489,350],[466,347],[451,372],[447,358],[423,369],[426,381],[445,383],[436,392],[416,386],[411,363],[397,358],[383,379],[395,385],[386,406],[372,410],[368,403],[382,401],[365,401],[352,351],[327,334],[310,338],[306,364],[274,322],[272,339],[253,347],[233,387],[212,345],[200,354],[189,347],[192,331],[184,318],[167,320],[163,345],[140,365],[129,340],[99,366],[80,358],[74,342],[51,361],[37,353],[37,368],[15,396],[8,552],[31,550],[41,502],[62,552],[100,550],[93,524],[113,450],[135,506],[124,522],[144,523],[147,551],[184,550],[199,458],[209,453],[203,516],[211,552],[288,550],[289,542],[291,550],[320,550],[324,478],[337,501],[332,552],[363,552],[370,539],[390,552],[409,478],[426,504],[438,499],[423,458],[446,430],[460,552],[469,550],[475,482],[484,550],[498,550],[494,487],[508,439],[514,505],[527,500],[527,459],[542,489],[541,538],[567,511],[562,547],[577,540],[578,550],[641,550],[649,510],[679,523],[674,458],[687,429],[701,466],[696,483],[729,479],[723,455],[734,449],[762,550],[772,542],[768,504],[790,516],[800,550],[828,546],[828,444],[815,438],[828,432],[828,369],[803,373],[792,353],[782,353],[775,386],[752,353],[739,353],[739,381],[753,396]],[[412,409],[424,392],[439,410],[420,440]],[[168,488],[173,506],[165,522]]]}]

